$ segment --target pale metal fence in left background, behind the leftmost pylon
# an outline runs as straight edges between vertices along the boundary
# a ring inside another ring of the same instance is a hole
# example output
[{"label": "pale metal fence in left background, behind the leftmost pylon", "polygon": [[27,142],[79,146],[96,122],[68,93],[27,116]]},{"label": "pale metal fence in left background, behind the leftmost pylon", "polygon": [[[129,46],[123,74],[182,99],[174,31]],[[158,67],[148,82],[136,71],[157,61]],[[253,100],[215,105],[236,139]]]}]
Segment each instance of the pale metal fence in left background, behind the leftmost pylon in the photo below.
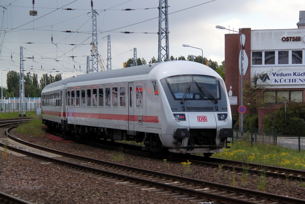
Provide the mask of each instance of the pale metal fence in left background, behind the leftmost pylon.
[{"label": "pale metal fence in left background, behind the leftmost pylon", "polygon": [[[41,98],[25,98],[25,111],[37,110],[41,108]],[[19,111],[19,98],[5,98],[0,99],[0,112],[18,112]]]}]

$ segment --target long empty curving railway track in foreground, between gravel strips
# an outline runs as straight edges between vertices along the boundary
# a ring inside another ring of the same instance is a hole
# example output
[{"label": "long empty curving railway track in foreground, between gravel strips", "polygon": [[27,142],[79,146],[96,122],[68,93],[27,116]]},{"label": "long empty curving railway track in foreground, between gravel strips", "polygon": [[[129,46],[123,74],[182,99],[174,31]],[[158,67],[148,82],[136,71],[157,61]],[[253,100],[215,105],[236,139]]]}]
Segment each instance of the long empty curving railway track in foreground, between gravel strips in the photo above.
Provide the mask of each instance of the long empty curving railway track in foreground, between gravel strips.
[{"label": "long empty curving railway track in foreground, between gravel strips", "polygon": [[[112,162],[81,157],[41,146],[36,146],[8,134],[7,148],[19,154],[26,154],[45,163],[52,162],[62,168],[111,180],[118,184],[130,185],[147,191],[155,191],[175,198],[189,199],[203,203],[304,203],[305,200],[274,195],[239,187],[232,187],[182,176],[154,172],[145,169],[119,165]],[[22,144],[21,144],[21,143]],[[16,146],[16,147],[13,147]],[[17,148],[18,147],[18,148]]]}]

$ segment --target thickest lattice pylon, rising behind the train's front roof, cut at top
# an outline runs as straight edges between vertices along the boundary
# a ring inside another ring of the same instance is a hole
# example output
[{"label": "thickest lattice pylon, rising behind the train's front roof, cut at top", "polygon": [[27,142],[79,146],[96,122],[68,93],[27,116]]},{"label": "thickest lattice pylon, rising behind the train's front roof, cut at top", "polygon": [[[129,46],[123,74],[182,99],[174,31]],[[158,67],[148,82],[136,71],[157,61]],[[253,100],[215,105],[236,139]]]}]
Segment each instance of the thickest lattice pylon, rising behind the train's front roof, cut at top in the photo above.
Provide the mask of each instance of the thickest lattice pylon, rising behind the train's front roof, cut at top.
[{"label": "thickest lattice pylon, rising behind the train's front roof, cut at top", "polygon": [[[169,53],[168,53],[168,18],[167,18],[167,0],[159,0],[159,45],[158,45],[158,62],[169,61]],[[163,45],[163,46],[162,46]]]}]

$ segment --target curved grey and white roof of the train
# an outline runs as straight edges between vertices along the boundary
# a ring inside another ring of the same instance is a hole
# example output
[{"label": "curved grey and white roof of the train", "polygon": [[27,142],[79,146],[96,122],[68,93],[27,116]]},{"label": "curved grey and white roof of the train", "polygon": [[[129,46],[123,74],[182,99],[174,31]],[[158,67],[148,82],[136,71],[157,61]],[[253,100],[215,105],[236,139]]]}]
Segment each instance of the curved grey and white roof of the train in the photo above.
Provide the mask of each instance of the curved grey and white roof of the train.
[{"label": "curved grey and white roof of the train", "polygon": [[[89,74],[74,75],[69,78],[48,84],[43,89],[42,92],[52,91],[55,87],[56,88],[59,88],[60,86],[64,87],[67,83],[78,83],[83,81],[94,81],[94,80],[111,79],[118,77],[148,75],[150,73],[154,76],[159,75],[161,76],[161,78],[170,75],[190,74],[189,66],[192,66],[192,68],[195,68],[198,71],[200,71],[200,74],[221,78],[217,74],[217,72],[215,72],[210,67],[207,67],[206,65],[192,61],[178,60],[178,61],[158,62],[147,65],[139,65],[135,67],[126,67],[123,69],[113,69],[108,71],[93,72]],[[152,72],[153,69],[154,71]]]}]

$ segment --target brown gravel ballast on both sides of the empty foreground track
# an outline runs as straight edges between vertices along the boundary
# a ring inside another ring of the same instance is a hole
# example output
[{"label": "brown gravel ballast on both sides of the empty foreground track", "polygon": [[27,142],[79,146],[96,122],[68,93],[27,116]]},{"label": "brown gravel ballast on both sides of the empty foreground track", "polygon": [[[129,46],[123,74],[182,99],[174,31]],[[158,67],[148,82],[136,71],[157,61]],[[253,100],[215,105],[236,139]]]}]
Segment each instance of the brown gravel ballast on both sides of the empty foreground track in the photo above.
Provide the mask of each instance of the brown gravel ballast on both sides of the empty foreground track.
[{"label": "brown gravel ballast on both sides of the empty foreground track", "polygon": [[[113,151],[110,150],[78,143],[67,143],[67,141],[56,142],[52,135],[29,136],[15,133],[15,136],[44,147],[115,162],[112,159]],[[53,140],[49,138],[53,138]],[[267,177],[264,182],[262,177],[257,175],[244,176],[241,173],[224,171],[223,169],[197,166],[191,166],[191,174],[188,175],[184,171],[183,165],[178,162],[126,154],[123,161],[117,163],[305,199],[305,188],[302,187],[305,182],[302,183],[300,181]],[[176,199],[167,195],[115,184],[111,181],[42,164],[32,159],[10,154],[3,158],[3,152],[0,152],[0,178],[0,191],[32,203],[190,203],[188,200]],[[265,187],[264,184],[266,184]]]}]

